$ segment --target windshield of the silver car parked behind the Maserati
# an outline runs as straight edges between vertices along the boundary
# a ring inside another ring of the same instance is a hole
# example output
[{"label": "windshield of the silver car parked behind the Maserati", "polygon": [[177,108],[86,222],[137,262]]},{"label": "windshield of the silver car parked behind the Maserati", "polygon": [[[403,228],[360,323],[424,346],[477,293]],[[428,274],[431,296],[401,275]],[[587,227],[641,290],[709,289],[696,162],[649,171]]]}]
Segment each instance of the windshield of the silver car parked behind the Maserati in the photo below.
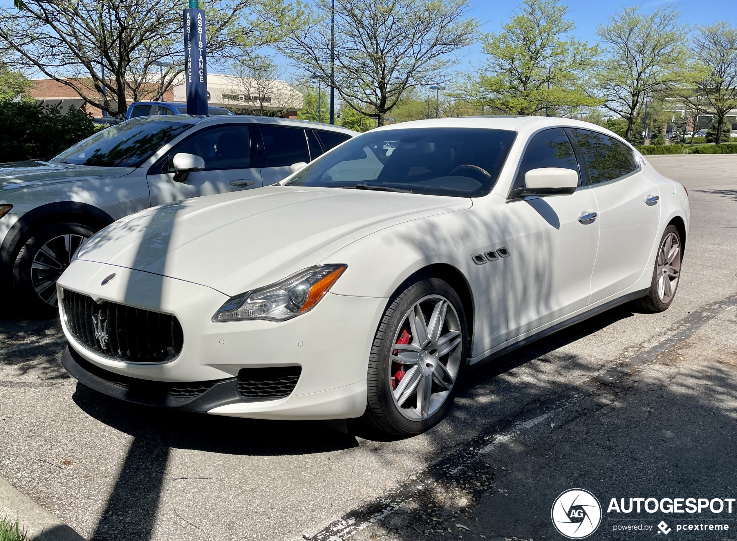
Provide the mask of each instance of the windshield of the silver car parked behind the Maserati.
[{"label": "windshield of the silver car parked behind the Maserati", "polygon": [[64,150],[50,161],[57,164],[138,167],[194,124],[146,117],[105,128]]}]

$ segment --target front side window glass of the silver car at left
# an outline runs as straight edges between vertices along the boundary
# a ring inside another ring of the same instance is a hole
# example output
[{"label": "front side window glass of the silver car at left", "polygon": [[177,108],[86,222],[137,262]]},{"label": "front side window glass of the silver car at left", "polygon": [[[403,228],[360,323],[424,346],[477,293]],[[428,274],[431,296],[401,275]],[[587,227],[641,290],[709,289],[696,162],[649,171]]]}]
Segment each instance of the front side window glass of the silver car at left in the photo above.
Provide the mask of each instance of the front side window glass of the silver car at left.
[{"label": "front side window glass of the silver car at left", "polygon": [[171,158],[181,152],[203,158],[205,170],[250,167],[251,137],[248,126],[219,126],[195,133],[169,153],[161,172],[172,172]]}]

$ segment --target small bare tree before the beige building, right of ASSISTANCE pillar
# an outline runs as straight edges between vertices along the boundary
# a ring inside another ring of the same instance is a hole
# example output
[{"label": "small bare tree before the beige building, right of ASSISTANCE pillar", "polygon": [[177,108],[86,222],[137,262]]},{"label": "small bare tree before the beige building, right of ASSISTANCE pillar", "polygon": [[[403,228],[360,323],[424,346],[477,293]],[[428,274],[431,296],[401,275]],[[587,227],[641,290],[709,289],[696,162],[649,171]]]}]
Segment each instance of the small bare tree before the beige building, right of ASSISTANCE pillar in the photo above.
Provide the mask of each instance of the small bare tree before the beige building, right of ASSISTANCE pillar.
[{"label": "small bare tree before the beige building, right of ASSISTANCE pillar", "polygon": [[234,84],[223,100],[245,105],[248,114],[284,116],[302,106],[302,94],[280,77],[284,71],[273,59],[254,56],[234,64]]}]

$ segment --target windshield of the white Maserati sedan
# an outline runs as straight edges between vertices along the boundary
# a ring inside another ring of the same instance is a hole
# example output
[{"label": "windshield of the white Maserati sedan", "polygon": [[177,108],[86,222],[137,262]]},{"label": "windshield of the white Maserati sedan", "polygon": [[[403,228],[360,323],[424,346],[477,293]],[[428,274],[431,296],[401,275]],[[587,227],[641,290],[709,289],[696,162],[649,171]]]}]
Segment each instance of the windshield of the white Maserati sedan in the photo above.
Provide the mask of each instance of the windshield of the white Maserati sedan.
[{"label": "windshield of the white Maserati sedan", "polygon": [[371,131],[313,161],[287,186],[480,197],[497,181],[515,135],[486,128]]}]

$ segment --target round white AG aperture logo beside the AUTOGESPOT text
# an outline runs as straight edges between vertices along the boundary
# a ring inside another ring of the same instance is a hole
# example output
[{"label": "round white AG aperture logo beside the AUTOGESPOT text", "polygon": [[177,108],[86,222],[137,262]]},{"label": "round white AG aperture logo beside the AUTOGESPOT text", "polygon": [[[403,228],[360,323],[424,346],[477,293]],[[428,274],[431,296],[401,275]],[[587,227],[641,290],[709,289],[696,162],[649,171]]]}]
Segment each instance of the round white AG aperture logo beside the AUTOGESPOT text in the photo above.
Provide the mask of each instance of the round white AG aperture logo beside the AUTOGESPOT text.
[{"label": "round white AG aperture logo beside the AUTOGESPOT text", "polygon": [[601,523],[601,504],[588,490],[569,489],[553,502],[551,519],[558,533],[568,539],[583,539]]}]

